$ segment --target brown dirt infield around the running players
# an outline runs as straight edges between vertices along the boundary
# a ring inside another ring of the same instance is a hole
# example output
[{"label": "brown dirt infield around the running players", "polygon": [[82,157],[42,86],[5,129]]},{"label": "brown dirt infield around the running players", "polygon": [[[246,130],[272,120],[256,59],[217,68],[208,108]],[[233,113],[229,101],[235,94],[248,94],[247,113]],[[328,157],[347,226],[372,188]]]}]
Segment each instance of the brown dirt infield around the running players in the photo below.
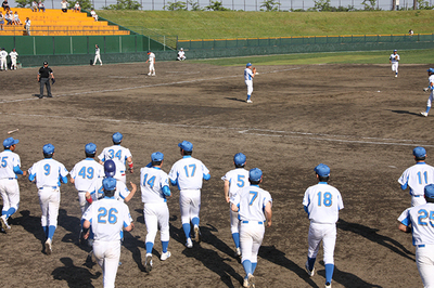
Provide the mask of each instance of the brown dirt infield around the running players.
[{"label": "brown dirt infield around the running players", "polygon": [[[144,64],[52,67],[53,99],[39,100],[38,69],[2,71],[0,132],[20,129],[16,152],[28,169],[42,158],[42,145],[55,146],[54,158],[71,170],[85,157],[88,142],[98,152],[111,135],[124,134],[139,184],[140,168],[153,152],[165,155],[168,172],[180,158],[177,144],[193,143],[193,157],[210,170],[202,191],[203,243],[184,247],[179,193],[168,200],[173,256],[144,272],[145,225],[140,189],[128,204],[136,230],[126,233],[117,287],[240,287],[243,267],[234,257],[229,207],[220,178],[232,169],[238,152],[246,168],[264,171],[263,188],[273,198],[255,272],[256,287],[323,287],[322,250],[317,274],[304,271],[309,221],[303,210],[305,189],[316,184],[314,167],[331,167],[330,184],[343,196],[337,223],[333,287],[421,287],[411,236],[397,230],[398,215],[410,206],[397,179],[413,163],[417,145],[434,155],[433,117],[420,117],[429,94],[426,68],[400,65],[259,66],[253,104],[244,102],[244,67],[156,63],[156,77]],[[429,163],[433,163],[427,158]],[[78,245],[80,211],[72,184],[62,185],[53,253],[42,252],[43,233],[36,187],[20,178],[20,210],[12,231],[0,234],[2,287],[102,287],[101,269],[84,265]]]}]

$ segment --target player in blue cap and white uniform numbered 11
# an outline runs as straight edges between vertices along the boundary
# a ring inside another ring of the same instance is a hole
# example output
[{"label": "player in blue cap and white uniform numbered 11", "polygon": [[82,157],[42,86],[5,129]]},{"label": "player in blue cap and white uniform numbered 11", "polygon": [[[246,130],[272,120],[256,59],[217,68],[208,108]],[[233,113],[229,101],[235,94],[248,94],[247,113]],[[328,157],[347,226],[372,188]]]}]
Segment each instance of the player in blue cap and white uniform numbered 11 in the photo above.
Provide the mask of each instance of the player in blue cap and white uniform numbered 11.
[{"label": "player in blue cap and white uniform numbered 11", "polygon": [[406,169],[398,179],[401,189],[410,187],[411,207],[425,204],[423,188],[434,183],[434,167],[425,163],[426,150],[423,147],[413,149],[416,165]]}]

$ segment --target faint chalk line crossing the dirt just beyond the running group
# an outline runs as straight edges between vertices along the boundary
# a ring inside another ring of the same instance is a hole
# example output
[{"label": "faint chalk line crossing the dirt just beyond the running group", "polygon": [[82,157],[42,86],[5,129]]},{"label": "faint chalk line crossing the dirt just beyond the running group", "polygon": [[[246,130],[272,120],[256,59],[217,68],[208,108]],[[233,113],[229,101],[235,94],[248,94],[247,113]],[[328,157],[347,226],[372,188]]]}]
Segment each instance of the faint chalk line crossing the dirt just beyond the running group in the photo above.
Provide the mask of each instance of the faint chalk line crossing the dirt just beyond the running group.
[{"label": "faint chalk line crossing the dirt just beyond the running group", "polygon": [[133,120],[118,120],[110,118],[98,118],[98,117],[71,117],[71,116],[56,116],[56,115],[40,115],[40,114],[16,114],[16,113],[0,113],[4,116],[15,117],[44,117],[44,118],[58,118],[58,119],[72,119],[89,122],[116,122],[126,125],[152,125],[152,126],[167,126],[177,128],[194,128],[194,129],[206,129],[206,130],[231,130],[240,134],[255,135],[263,138],[289,138],[289,139],[302,139],[302,140],[314,140],[314,141],[327,141],[327,142],[340,142],[340,143],[354,143],[354,144],[371,144],[371,145],[390,145],[390,146],[424,146],[434,147],[434,145],[426,144],[427,141],[421,140],[407,140],[407,139],[384,139],[384,138],[359,138],[359,140],[352,140],[352,135],[333,135],[324,133],[309,133],[309,132],[295,132],[295,131],[283,131],[283,130],[271,130],[271,129],[245,129],[238,127],[218,127],[218,126],[194,126],[194,125],[182,125],[182,123],[158,123],[151,121],[133,121]]}]

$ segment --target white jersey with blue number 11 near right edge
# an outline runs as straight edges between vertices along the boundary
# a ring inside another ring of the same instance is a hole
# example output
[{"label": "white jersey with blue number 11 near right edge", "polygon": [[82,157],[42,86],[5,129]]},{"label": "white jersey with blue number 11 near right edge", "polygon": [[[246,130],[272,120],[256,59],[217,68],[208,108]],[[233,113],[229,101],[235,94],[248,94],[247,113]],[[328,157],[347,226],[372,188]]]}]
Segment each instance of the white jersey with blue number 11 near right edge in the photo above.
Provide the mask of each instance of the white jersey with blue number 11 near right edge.
[{"label": "white jersey with blue number 11 near right edge", "polygon": [[418,162],[407,168],[398,179],[398,182],[401,185],[408,184],[410,187],[410,195],[422,196],[424,195],[423,188],[427,184],[434,183],[434,167],[425,162]]}]

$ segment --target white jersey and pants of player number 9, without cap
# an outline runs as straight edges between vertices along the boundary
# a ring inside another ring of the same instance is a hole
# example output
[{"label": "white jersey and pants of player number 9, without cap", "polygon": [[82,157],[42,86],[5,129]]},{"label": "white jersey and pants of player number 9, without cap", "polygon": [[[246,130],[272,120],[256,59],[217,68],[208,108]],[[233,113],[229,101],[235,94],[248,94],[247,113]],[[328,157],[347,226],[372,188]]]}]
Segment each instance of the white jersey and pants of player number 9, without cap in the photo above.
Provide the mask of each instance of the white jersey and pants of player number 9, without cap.
[{"label": "white jersey and pants of player number 9, without cap", "polygon": [[58,226],[59,205],[61,202],[61,178],[68,171],[63,163],[46,158],[34,163],[28,170],[29,179],[35,179],[38,187],[39,204],[42,210],[42,226]]}]

